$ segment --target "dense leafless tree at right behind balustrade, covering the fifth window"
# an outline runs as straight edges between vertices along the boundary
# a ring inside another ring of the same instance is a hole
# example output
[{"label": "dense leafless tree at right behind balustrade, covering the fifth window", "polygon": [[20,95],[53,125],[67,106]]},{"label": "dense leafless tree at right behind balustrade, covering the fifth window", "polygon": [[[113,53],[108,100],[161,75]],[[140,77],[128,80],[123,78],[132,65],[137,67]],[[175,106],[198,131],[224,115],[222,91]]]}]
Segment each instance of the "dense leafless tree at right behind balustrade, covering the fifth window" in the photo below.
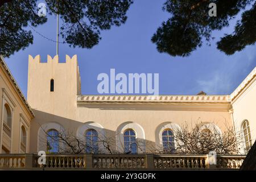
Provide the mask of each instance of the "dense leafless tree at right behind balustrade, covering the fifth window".
[{"label": "dense leafless tree at right behind balustrade, covering the fifth window", "polygon": [[[170,149],[156,152],[168,154],[209,154],[216,151],[217,154],[233,155],[240,153],[242,139],[240,134],[232,126],[225,125],[223,132],[210,123],[208,127],[202,127],[200,122],[188,125],[184,123],[179,129],[173,129],[175,147],[170,144]],[[174,148],[173,148],[174,147]],[[160,148],[160,147],[159,147]],[[163,147],[162,147],[163,148]]]}]

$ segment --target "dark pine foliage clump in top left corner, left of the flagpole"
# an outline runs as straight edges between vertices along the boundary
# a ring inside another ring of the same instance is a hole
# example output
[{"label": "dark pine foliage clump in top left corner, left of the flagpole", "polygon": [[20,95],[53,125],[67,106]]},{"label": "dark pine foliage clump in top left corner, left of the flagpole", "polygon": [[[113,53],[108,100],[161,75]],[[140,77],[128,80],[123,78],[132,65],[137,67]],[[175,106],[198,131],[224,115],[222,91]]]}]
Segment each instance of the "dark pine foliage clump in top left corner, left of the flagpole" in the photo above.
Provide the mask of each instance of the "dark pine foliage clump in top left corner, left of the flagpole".
[{"label": "dark pine foliage clump in top left corner, left of the flagpole", "polygon": [[12,1],[0,7],[0,55],[10,56],[33,43],[31,31],[24,30],[28,23],[37,26],[46,22],[37,14],[36,1]]}]

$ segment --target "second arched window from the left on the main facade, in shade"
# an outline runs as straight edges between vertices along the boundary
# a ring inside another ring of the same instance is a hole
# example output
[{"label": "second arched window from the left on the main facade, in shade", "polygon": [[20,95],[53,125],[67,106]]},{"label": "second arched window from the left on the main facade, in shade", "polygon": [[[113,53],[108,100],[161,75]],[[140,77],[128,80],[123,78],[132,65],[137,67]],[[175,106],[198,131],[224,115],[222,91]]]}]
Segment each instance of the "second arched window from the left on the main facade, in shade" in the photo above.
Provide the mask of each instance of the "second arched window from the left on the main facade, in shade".
[{"label": "second arched window from the left on the main facade, in shade", "polygon": [[89,129],[85,133],[86,139],[86,152],[97,153],[98,152],[98,133],[94,129]]}]

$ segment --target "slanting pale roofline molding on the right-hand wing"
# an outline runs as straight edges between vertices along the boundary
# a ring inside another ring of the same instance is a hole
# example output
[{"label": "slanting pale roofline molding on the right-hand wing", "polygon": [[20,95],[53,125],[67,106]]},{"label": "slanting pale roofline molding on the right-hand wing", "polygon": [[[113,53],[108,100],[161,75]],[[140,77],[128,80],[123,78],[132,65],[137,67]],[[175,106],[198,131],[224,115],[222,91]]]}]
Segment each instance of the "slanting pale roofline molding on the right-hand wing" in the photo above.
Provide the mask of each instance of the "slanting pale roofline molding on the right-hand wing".
[{"label": "slanting pale roofline molding on the right-hand wing", "polygon": [[230,99],[233,101],[237,96],[246,88],[246,86],[253,80],[256,76],[256,67],[249,73],[249,75],[242,81],[242,83],[230,94]]}]

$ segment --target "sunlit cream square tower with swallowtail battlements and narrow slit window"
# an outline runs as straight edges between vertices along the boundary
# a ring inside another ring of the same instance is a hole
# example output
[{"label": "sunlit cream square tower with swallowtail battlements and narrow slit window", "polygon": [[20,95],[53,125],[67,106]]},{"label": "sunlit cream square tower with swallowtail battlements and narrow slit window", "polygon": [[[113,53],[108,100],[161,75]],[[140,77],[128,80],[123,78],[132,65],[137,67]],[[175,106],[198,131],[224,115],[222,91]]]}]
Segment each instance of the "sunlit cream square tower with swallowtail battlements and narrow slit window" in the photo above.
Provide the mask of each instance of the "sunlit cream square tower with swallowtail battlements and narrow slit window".
[{"label": "sunlit cream square tower with swallowtail battlements and narrow slit window", "polygon": [[[59,56],[47,56],[42,63],[40,55],[28,56],[27,100],[32,109],[62,117],[72,117],[76,96],[81,92],[77,55],[66,55],[65,63]],[[64,111],[64,112],[63,112]],[[63,115],[65,113],[65,115]]]}]

